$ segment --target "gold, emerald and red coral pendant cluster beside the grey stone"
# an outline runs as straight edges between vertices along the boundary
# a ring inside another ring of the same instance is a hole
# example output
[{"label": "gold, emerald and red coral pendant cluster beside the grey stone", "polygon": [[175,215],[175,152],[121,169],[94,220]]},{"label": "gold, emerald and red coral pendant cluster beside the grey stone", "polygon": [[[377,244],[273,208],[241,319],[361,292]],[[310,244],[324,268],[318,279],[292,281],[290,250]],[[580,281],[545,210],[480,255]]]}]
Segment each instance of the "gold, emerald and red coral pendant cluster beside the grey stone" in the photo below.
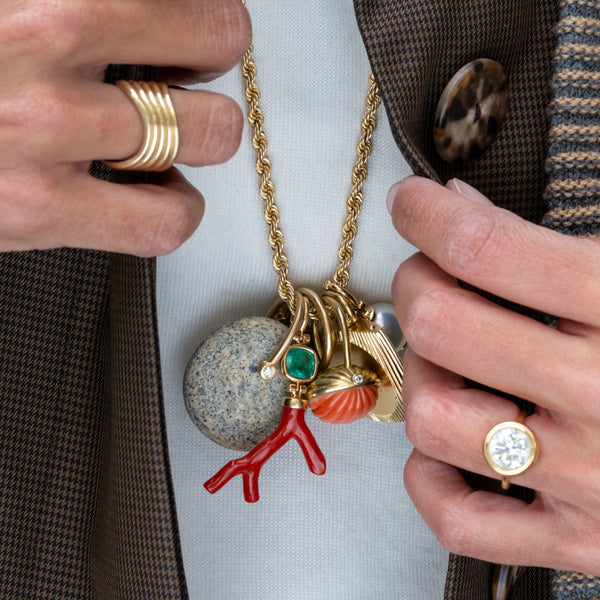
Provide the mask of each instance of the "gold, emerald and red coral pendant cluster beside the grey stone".
[{"label": "gold, emerald and red coral pendant cluster beside the grey stone", "polygon": [[[365,416],[377,421],[404,420],[401,358],[374,322],[375,311],[332,283],[321,296],[300,288],[294,312],[279,302],[268,316],[289,322],[275,351],[256,369],[256,376],[287,381],[279,425],[250,452],[225,465],[205,483],[214,493],[242,475],[246,501],[259,498],[258,475],[266,461],[290,439],[300,445],[309,469],[325,472],[325,457],[305,422],[305,411],[327,423],[351,423]],[[333,366],[332,366],[333,365]],[[377,410],[378,399],[387,396]],[[391,397],[391,400],[390,400]]]}]

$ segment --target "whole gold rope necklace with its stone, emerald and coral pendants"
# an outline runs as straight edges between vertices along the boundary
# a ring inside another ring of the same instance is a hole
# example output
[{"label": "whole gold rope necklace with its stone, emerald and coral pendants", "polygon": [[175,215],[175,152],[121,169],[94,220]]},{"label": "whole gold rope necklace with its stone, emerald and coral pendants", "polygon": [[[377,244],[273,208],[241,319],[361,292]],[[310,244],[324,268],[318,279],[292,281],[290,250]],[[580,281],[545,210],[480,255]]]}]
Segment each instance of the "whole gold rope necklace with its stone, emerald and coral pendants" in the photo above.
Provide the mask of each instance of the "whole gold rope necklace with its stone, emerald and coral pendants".
[{"label": "whole gold rope necklace with its stone, emerald and coral pendants", "polygon": [[318,294],[295,289],[289,277],[252,53],[250,46],[241,71],[280,300],[266,318],[240,319],[211,335],[196,350],[184,379],[186,407],[198,428],[225,447],[250,450],[227,463],[204,484],[206,489],[214,493],[242,475],[248,502],[259,498],[261,467],[290,439],[300,444],[313,473],[325,472],[325,457],[305,421],[306,409],[336,424],[365,416],[383,422],[404,420],[398,349],[374,322],[374,308],[346,290],[381,103],[375,77],[369,76],[339,265]]}]

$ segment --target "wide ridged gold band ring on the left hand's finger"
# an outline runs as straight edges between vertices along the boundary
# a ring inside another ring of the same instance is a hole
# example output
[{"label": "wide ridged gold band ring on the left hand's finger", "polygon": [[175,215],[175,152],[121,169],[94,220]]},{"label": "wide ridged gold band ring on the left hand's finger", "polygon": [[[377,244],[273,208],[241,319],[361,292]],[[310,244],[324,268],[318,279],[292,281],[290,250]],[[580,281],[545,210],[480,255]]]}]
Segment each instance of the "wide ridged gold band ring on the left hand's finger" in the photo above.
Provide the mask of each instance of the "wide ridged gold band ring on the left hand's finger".
[{"label": "wide ridged gold band ring on the left hand's finger", "polygon": [[179,150],[179,130],[169,86],[153,81],[117,81],[117,87],[133,102],[144,123],[139,150],[123,160],[105,160],[112,169],[166,171]]}]

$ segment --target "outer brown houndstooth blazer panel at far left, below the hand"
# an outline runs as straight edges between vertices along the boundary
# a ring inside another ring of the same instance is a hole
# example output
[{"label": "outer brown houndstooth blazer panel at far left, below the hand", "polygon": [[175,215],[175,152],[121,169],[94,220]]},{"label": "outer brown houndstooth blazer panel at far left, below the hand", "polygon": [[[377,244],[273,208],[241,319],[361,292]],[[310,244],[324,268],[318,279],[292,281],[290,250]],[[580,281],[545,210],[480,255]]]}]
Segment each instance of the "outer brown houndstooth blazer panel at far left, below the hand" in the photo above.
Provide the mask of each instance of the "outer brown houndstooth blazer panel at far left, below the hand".
[{"label": "outer brown houndstooth blazer panel at far left, below the hand", "polygon": [[0,254],[0,597],[92,598],[104,253]]}]

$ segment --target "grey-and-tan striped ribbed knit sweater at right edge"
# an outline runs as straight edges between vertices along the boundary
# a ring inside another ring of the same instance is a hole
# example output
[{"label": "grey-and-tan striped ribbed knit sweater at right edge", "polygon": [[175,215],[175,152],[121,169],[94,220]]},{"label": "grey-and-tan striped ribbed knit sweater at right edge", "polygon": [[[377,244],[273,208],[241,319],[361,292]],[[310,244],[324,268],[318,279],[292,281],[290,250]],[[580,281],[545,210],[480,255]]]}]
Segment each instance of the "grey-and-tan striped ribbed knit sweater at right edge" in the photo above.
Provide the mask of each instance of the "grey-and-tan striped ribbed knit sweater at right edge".
[{"label": "grey-and-tan striped ribbed knit sweater at right edge", "polygon": [[[600,0],[562,0],[548,109],[543,224],[600,235]],[[599,542],[600,543],[600,542]],[[600,577],[556,571],[554,600],[599,600]]]}]

